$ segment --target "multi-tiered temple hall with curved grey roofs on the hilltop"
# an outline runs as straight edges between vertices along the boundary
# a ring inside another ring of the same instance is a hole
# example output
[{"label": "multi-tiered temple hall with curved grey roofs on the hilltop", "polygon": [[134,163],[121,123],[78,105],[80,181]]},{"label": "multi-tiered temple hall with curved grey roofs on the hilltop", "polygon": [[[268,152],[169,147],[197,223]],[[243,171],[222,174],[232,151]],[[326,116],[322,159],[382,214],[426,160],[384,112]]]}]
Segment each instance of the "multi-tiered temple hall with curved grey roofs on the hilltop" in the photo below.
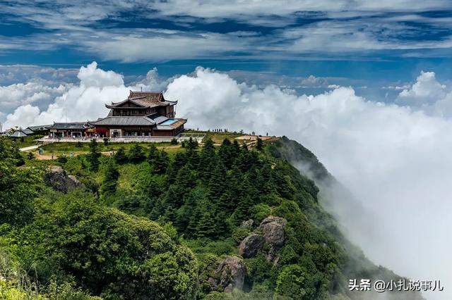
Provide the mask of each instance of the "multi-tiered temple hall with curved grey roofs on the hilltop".
[{"label": "multi-tiered temple hall with curved grey roofs on the hilltop", "polygon": [[110,112],[89,125],[100,137],[174,137],[184,131],[186,119],[175,118],[177,101],[162,92],[132,92],[124,101],[106,104]]}]

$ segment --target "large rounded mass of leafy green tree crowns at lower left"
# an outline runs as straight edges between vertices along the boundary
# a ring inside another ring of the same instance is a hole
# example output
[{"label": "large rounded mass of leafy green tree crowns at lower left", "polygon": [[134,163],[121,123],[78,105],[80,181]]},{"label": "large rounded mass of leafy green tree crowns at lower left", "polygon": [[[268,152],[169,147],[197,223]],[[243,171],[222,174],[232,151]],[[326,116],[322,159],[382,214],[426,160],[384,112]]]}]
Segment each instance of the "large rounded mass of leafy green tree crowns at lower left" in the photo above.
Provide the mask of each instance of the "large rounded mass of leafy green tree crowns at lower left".
[{"label": "large rounded mass of leafy green tree crowns at lower left", "polygon": [[11,236],[14,249],[25,245],[25,267],[33,265],[42,280],[72,277],[106,299],[195,298],[196,258],[160,225],[102,206],[81,191],[50,197],[40,215]]}]

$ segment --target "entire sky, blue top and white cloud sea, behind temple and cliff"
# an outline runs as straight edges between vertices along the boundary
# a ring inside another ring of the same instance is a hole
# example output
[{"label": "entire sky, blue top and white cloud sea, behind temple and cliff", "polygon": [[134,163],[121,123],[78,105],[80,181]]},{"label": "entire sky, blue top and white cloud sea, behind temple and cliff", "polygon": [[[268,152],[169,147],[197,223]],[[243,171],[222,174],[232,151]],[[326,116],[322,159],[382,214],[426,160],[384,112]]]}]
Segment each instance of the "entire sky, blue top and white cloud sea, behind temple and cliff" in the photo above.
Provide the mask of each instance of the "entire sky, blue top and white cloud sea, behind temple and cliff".
[{"label": "entire sky, blue top and white cloud sea, behind temple and cliff", "polygon": [[374,215],[343,224],[372,260],[452,286],[451,28],[449,0],[0,0],[0,123],[143,89],[189,127],[287,135]]}]

